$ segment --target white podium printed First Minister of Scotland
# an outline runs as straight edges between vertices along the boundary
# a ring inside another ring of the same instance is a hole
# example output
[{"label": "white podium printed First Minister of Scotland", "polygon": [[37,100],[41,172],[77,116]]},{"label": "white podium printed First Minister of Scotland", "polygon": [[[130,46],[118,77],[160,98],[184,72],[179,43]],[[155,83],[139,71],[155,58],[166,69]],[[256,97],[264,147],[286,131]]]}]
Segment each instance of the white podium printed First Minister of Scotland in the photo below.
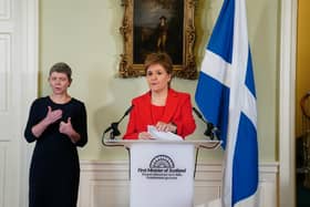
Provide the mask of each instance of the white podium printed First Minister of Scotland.
[{"label": "white podium printed First Minister of Scotland", "polygon": [[220,142],[104,139],[103,144],[130,152],[131,207],[193,207],[196,151],[217,148]]}]

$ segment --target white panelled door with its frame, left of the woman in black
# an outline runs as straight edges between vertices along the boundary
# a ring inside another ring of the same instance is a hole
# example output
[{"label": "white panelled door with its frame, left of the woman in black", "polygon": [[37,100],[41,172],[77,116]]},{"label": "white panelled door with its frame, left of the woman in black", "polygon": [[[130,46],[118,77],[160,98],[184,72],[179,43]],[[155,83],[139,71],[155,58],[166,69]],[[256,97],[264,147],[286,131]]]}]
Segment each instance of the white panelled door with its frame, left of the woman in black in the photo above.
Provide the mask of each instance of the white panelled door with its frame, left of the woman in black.
[{"label": "white panelled door with its frame, left of the woman in black", "polygon": [[31,147],[23,130],[38,96],[38,1],[0,0],[0,207],[28,206]]}]

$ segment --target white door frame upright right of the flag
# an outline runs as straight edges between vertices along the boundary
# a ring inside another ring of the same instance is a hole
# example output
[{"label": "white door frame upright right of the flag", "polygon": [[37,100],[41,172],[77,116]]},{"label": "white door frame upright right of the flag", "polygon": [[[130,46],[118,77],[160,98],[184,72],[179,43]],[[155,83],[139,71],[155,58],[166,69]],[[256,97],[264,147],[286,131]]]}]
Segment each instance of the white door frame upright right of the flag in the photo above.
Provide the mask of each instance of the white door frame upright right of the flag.
[{"label": "white door frame upright right of the flag", "polygon": [[279,206],[296,206],[294,89],[298,0],[281,0],[279,73]]}]

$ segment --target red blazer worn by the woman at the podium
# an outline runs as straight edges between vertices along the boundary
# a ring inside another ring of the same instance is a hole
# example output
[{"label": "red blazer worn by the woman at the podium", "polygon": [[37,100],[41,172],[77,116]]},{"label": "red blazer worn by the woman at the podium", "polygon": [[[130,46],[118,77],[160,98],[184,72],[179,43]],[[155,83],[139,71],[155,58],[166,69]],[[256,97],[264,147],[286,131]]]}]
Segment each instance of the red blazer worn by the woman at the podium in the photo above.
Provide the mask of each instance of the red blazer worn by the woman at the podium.
[{"label": "red blazer worn by the woman at the podium", "polygon": [[132,104],[133,110],[124,139],[137,139],[141,132],[147,132],[147,125],[155,125],[158,121],[174,123],[177,126],[177,134],[182,137],[192,134],[196,128],[190,95],[187,93],[169,89],[164,115],[158,121],[152,118],[151,92],[133,99]]}]

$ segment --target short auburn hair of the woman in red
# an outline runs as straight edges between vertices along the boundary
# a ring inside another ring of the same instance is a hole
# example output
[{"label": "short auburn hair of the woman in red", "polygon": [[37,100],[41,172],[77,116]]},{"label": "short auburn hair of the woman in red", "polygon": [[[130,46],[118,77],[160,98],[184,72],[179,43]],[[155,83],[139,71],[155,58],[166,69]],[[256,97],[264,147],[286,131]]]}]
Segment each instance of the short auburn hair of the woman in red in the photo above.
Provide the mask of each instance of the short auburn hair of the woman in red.
[{"label": "short auburn hair of the woman in red", "polygon": [[173,61],[167,53],[158,52],[151,53],[144,61],[144,71],[146,72],[149,65],[161,64],[168,74],[173,73]]}]

